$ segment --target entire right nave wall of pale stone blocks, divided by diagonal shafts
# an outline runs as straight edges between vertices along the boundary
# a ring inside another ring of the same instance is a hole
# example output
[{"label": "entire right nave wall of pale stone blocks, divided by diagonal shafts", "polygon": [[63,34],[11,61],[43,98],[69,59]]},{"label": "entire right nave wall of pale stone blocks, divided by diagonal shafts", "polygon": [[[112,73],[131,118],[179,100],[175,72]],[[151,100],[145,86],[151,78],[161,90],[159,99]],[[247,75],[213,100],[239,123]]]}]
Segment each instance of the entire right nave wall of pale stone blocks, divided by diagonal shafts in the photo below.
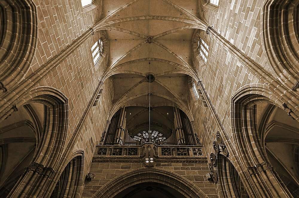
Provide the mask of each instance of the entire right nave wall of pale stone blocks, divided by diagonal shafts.
[{"label": "entire right nave wall of pale stone blocks, divided by diagonal shafts", "polygon": [[[217,9],[209,9],[208,6],[202,8],[204,18],[213,25],[213,29],[234,44],[241,52],[274,74],[262,47],[260,21],[262,7],[262,1],[220,0]],[[228,52],[216,38],[207,35],[202,30],[199,31],[199,36],[210,46],[209,57],[207,64],[200,66],[200,68],[199,66],[195,67],[202,77],[202,84],[221,124],[232,142],[231,98],[244,85],[251,84],[254,86],[256,83],[264,84],[264,82],[257,79],[247,66]],[[194,106],[190,99],[189,104],[194,116],[195,128],[202,144],[206,146],[208,155],[213,151],[210,145],[218,129],[208,108],[204,107],[201,102],[199,102],[199,106]]]}]

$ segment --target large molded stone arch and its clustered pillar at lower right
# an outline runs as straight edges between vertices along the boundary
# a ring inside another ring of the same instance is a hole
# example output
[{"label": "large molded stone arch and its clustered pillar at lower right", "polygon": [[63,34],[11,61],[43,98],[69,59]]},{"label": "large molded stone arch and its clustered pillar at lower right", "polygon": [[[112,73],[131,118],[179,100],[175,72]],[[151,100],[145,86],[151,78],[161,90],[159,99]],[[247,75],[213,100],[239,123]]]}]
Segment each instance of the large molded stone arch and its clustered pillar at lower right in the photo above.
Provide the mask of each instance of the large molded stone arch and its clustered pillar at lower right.
[{"label": "large molded stone arch and its clustered pillar at lower right", "polygon": [[[271,91],[257,86],[244,86],[231,100],[232,136],[240,164],[246,173],[239,176],[254,189],[255,195],[251,194],[252,197],[291,197],[266,158],[256,126],[256,104],[269,103],[280,108],[283,105]],[[251,192],[251,189],[248,188],[248,191]]]}]

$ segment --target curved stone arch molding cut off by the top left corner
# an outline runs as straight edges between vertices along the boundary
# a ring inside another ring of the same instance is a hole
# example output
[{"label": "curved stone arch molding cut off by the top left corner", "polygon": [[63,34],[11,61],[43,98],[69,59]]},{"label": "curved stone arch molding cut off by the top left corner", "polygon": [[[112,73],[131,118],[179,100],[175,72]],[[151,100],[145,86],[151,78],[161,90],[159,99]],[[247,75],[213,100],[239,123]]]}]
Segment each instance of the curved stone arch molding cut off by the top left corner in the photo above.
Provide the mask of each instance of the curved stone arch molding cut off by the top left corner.
[{"label": "curved stone arch molding cut off by the top left corner", "polygon": [[0,1],[0,93],[27,73],[36,48],[37,11],[32,0]]}]

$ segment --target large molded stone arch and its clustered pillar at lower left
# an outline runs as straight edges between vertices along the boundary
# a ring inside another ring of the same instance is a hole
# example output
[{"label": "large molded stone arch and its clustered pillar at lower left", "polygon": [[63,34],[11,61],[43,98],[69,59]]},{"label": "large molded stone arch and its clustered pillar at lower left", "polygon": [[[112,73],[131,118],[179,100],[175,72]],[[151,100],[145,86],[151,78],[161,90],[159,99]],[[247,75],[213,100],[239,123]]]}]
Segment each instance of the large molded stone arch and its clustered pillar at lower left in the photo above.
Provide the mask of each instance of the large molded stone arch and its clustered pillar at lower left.
[{"label": "large molded stone arch and its clustered pillar at lower left", "polygon": [[[49,184],[59,169],[68,129],[68,99],[57,89],[42,86],[30,90],[30,95],[16,103],[15,108],[30,103],[45,105],[44,127],[36,152],[22,177],[8,197],[44,197]],[[35,177],[36,180],[30,178]],[[45,182],[43,182],[45,181]],[[26,190],[30,186],[30,190]]]}]

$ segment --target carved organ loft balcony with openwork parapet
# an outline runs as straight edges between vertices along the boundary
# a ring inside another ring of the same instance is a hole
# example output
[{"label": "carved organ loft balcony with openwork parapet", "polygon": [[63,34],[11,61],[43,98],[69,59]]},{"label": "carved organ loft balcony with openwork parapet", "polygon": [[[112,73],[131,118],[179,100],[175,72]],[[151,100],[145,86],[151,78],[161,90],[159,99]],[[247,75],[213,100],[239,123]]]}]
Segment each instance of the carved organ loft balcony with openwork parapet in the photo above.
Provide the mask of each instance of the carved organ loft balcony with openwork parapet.
[{"label": "carved organ loft balcony with openwork parapet", "polygon": [[[202,145],[97,145],[94,163],[207,163]],[[166,166],[166,165],[165,165]]]}]

